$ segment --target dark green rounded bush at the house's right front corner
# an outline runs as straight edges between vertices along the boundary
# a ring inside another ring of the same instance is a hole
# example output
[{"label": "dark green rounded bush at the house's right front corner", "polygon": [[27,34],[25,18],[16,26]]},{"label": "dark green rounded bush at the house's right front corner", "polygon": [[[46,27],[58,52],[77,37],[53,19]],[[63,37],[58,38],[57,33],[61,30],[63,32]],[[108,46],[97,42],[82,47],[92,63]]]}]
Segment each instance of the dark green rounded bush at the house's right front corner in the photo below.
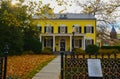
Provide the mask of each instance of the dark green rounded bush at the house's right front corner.
[{"label": "dark green rounded bush at the house's right front corner", "polygon": [[99,47],[96,45],[88,45],[85,49],[87,54],[96,54],[98,53]]}]

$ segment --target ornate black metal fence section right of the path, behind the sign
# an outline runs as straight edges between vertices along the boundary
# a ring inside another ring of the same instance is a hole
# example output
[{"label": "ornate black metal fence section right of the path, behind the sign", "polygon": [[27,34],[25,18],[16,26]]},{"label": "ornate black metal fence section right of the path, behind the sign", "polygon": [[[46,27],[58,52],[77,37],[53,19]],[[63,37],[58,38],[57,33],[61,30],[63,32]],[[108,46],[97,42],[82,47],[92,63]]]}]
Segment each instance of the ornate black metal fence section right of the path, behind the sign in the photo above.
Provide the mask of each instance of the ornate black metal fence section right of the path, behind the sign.
[{"label": "ornate black metal fence section right of the path, behind the sign", "polygon": [[[120,78],[120,58],[117,55],[64,55],[63,69],[61,70],[61,79],[88,79],[87,59],[98,58],[101,60],[103,79],[119,79]],[[62,63],[62,62],[61,62]],[[62,67],[62,66],[61,66]]]}]

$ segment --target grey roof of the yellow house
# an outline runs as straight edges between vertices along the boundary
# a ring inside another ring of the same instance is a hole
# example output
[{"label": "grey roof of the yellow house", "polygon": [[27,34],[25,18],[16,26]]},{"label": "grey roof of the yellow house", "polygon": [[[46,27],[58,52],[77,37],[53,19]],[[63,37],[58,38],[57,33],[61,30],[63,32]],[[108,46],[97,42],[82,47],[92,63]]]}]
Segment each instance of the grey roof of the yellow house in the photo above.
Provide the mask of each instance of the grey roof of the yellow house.
[{"label": "grey roof of the yellow house", "polygon": [[[47,19],[58,19],[58,20],[70,20],[70,19],[93,19],[96,20],[95,16],[91,14],[78,14],[78,13],[66,13],[66,14],[53,14],[53,15],[43,15],[43,17],[47,17]],[[33,16],[33,19],[40,19],[39,16]]]}]

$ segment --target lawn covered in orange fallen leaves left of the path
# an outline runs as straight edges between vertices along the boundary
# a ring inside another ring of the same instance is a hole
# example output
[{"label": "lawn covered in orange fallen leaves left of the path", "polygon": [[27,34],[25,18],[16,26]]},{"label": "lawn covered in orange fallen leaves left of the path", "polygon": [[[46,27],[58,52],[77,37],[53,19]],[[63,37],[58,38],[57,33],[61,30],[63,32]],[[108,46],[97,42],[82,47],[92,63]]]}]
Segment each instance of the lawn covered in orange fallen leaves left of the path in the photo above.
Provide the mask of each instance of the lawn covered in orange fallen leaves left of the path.
[{"label": "lawn covered in orange fallen leaves left of the path", "polygon": [[22,55],[8,57],[7,76],[13,79],[31,79],[54,55]]}]

